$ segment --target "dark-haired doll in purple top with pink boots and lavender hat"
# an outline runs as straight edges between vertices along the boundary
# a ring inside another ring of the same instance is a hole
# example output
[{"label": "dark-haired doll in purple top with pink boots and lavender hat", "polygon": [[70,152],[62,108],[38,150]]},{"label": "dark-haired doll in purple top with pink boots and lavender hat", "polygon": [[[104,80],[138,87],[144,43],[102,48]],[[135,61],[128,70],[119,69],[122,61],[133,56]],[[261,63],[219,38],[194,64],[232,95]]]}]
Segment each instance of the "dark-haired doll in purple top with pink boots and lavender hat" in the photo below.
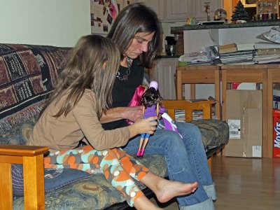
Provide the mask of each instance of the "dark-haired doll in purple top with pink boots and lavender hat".
[{"label": "dark-haired doll in purple top with pink boots and lavender hat", "polygon": [[[156,81],[151,81],[148,89],[141,97],[141,105],[143,105],[143,118],[158,116],[161,102],[162,97],[158,92],[158,83]],[[149,137],[150,134],[141,134],[137,157],[144,155],[144,150],[148,143]]]}]

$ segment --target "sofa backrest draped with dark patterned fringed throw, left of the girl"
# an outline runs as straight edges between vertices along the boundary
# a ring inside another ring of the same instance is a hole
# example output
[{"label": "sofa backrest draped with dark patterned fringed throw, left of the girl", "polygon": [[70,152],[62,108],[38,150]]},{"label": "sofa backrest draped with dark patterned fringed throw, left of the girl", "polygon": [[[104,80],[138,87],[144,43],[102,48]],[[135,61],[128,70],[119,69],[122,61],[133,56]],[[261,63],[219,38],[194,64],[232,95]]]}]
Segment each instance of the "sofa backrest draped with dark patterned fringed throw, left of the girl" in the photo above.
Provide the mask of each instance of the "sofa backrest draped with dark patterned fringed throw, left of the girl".
[{"label": "sofa backrest draped with dark patterned fringed throw, left of the girl", "polygon": [[20,132],[36,122],[69,49],[0,44],[0,144],[25,144]]}]

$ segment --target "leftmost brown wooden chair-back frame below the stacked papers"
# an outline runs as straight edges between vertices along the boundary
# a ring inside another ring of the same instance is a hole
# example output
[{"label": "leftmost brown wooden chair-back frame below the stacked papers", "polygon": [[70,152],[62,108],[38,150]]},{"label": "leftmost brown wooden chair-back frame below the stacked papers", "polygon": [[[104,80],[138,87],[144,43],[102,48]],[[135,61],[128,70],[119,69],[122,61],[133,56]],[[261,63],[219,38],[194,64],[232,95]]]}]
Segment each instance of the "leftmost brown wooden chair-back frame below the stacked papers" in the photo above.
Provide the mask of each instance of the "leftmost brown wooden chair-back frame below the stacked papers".
[{"label": "leftmost brown wooden chair-back frame below the stacked papers", "polygon": [[176,75],[177,99],[182,99],[183,84],[190,84],[190,99],[195,99],[195,84],[215,84],[216,117],[220,120],[220,66],[179,66]]}]

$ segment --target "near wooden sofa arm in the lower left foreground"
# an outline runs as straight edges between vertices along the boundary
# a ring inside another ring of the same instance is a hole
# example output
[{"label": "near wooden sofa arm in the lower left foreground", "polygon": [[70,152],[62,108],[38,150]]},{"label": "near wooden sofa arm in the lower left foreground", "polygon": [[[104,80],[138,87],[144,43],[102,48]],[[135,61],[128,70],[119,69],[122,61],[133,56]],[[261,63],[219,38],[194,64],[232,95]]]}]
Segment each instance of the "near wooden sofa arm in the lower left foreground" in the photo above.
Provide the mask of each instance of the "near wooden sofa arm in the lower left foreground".
[{"label": "near wooden sofa arm in the lower left foreground", "polygon": [[22,164],[25,209],[45,209],[43,146],[0,144],[0,209],[13,209],[11,164]]}]

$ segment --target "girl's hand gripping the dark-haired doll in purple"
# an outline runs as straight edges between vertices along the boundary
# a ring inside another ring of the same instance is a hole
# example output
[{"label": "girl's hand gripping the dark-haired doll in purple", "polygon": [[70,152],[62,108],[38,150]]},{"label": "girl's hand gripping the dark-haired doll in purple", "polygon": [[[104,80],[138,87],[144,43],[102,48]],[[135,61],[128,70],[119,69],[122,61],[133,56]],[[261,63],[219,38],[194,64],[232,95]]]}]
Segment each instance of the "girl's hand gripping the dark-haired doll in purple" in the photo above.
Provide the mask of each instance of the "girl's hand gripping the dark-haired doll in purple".
[{"label": "girl's hand gripping the dark-haired doll in purple", "polygon": [[132,125],[128,126],[130,130],[130,138],[137,134],[153,134],[158,125],[158,117],[141,118]]}]

